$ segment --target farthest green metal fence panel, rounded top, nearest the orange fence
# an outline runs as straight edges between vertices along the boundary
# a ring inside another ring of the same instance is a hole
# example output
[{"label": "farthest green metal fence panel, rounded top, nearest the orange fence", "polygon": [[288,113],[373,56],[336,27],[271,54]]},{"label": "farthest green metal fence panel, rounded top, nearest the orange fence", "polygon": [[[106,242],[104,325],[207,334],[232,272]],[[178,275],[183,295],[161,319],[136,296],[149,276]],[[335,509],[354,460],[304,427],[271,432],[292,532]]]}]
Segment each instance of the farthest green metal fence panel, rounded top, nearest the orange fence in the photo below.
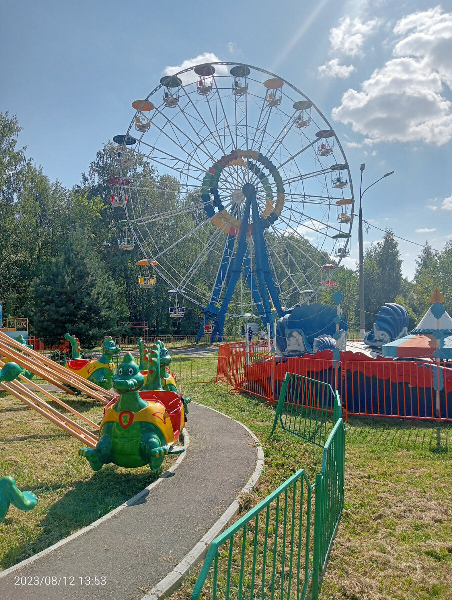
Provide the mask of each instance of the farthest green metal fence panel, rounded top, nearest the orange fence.
[{"label": "farthest green metal fence panel, rounded top, nearest the orange fence", "polygon": [[271,434],[280,421],[283,430],[324,448],[341,416],[339,392],[329,383],[286,373]]}]

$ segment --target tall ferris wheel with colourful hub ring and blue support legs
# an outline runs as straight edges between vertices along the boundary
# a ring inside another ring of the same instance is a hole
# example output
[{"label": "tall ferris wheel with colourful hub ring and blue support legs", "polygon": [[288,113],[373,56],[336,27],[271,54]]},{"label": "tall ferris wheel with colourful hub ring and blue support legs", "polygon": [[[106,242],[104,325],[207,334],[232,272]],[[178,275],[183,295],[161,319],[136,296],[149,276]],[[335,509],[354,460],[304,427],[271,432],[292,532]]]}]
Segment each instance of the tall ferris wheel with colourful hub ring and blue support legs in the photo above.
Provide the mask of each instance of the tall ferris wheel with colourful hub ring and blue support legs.
[{"label": "tall ferris wheel with colourful hub ring and blue support legs", "polygon": [[163,77],[132,106],[114,138],[119,197],[156,276],[203,308],[199,336],[222,341],[226,316],[267,324],[332,283],[350,252],[353,187],[303,92],[218,62]]}]

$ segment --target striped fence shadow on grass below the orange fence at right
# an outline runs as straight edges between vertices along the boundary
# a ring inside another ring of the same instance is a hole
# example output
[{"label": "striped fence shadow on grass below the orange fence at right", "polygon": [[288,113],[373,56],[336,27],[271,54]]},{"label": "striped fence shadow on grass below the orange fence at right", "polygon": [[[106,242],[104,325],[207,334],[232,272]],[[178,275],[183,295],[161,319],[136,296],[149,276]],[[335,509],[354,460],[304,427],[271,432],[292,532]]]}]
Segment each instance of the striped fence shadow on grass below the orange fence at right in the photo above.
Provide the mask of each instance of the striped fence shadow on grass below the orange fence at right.
[{"label": "striped fence shadow on grass below the orange fence at right", "polygon": [[361,419],[351,416],[347,424],[347,441],[447,453],[452,443],[452,426],[435,422]]}]

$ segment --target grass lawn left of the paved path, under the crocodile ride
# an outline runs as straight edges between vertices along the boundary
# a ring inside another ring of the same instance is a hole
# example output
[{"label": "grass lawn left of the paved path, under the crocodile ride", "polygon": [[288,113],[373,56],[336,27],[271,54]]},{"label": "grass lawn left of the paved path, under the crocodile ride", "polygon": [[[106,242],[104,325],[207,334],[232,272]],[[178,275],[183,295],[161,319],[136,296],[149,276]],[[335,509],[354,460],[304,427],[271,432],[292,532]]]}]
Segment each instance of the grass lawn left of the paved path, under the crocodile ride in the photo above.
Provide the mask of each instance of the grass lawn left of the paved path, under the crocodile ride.
[{"label": "grass lawn left of the paved path, under the crocodile ride", "polygon": [[[60,397],[92,421],[101,421],[100,403],[82,396]],[[64,409],[61,412],[72,416]],[[77,454],[82,446],[16,398],[0,392],[0,477],[11,475],[19,490],[31,490],[39,499],[31,512],[11,506],[0,523],[0,571],[94,523],[157,479],[149,467],[130,470],[107,465],[94,473]],[[162,469],[175,460],[167,457]]]}]

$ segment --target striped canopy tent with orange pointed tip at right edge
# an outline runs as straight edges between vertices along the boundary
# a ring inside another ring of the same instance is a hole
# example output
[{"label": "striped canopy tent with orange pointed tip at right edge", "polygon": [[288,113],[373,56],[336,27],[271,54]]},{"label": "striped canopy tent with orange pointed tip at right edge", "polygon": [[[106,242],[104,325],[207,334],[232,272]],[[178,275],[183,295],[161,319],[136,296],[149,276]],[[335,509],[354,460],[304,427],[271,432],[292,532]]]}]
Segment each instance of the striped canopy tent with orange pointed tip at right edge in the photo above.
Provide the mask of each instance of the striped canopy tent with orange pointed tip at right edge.
[{"label": "striped canopy tent with orange pointed tip at right edge", "polygon": [[[444,298],[436,289],[430,298],[432,306],[413,329],[411,335],[383,346],[388,358],[418,358],[419,360],[452,359],[452,317],[444,308]],[[439,340],[439,344],[438,344]]]}]

